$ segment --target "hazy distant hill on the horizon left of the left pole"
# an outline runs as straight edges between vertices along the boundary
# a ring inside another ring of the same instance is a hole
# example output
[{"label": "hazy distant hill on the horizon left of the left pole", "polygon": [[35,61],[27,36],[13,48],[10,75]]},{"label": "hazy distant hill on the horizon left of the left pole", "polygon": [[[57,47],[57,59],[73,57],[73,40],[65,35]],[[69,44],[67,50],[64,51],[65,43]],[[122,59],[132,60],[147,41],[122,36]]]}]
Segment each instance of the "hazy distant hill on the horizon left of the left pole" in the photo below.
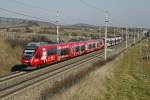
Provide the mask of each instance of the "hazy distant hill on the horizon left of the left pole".
[{"label": "hazy distant hill on the horizon left of the left pole", "polygon": [[26,26],[55,27],[55,24],[35,20],[0,17],[0,28],[26,27]]}]

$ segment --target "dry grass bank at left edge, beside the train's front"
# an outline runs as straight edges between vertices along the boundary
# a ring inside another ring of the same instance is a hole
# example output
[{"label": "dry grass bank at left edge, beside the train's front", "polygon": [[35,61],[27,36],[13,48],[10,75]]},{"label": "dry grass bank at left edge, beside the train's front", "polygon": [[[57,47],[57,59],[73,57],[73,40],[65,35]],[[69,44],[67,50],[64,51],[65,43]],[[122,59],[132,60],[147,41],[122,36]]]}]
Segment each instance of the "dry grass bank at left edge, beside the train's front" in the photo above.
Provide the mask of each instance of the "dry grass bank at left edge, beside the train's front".
[{"label": "dry grass bank at left edge, beside the train's front", "polygon": [[11,72],[14,65],[20,63],[22,49],[12,48],[9,43],[0,38],[0,75]]}]

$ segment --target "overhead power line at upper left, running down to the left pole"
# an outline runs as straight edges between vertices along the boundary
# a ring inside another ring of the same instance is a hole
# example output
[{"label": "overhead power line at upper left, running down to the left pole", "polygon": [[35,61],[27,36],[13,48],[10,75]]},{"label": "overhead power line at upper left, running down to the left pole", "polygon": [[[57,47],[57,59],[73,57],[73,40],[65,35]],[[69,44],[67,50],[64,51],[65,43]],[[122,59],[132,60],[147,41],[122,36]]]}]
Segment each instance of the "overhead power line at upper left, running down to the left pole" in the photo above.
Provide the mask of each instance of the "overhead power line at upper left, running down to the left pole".
[{"label": "overhead power line at upper left, running down to the left pole", "polygon": [[13,14],[16,14],[16,15],[26,16],[26,17],[33,18],[33,19],[40,20],[40,21],[44,21],[44,22],[53,22],[54,23],[54,21],[45,20],[45,19],[42,19],[42,18],[39,18],[39,17],[34,17],[34,16],[23,14],[23,13],[20,13],[20,12],[15,12],[15,11],[8,10],[8,9],[5,9],[5,8],[0,8],[0,10],[8,12],[8,13],[13,13]]}]

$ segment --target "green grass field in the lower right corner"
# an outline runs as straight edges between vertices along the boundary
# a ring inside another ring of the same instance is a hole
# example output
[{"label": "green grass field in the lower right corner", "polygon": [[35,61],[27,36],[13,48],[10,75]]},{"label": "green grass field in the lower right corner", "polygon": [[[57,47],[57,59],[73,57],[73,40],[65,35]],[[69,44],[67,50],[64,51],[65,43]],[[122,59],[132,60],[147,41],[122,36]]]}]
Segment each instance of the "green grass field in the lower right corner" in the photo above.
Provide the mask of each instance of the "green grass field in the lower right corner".
[{"label": "green grass field in the lower right corner", "polygon": [[130,48],[114,68],[108,79],[102,100],[150,100],[150,60],[142,59],[141,47]]}]

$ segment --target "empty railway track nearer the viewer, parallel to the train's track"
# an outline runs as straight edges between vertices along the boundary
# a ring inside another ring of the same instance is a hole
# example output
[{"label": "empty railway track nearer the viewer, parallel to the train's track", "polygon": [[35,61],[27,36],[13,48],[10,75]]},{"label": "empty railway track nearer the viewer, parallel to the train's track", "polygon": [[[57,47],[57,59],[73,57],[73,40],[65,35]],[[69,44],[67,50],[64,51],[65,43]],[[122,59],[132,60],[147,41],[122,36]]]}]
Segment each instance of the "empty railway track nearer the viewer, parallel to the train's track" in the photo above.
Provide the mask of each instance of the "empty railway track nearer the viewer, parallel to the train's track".
[{"label": "empty railway track nearer the viewer, parallel to the train's track", "polygon": [[32,77],[32,79],[28,79],[26,81],[22,81],[21,83],[17,83],[17,84],[14,84],[13,86],[11,87],[8,87],[8,88],[5,88],[5,90],[3,91],[0,91],[0,97],[4,97],[6,95],[9,95],[11,93],[13,93],[14,91],[18,91],[19,89],[22,89],[22,88],[25,88],[29,85],[32,85],[34,83],[38,83],[44,79],[47,79],[49,77],[54,77],[55,75],[57,74],[61,74],[61,73],[64,73],[66,71],[70,71],[70,70],[73,70],[74,68],[77,68],[77,66],[79,66],[80,64],[83,64],[83,63],[87,63],[89,61],[96,61],[96,59],[102,57],[102,53],[99,54],[99,55],[95,55],[95,56],[91,56],[91,57],[88,57],[87,59],[84,59],[84,60],[81,60],[81,61],[78,61],[77,63],[74,63],[74,64],[70,64],[70,65],[67,65],[67,66],[63,66],[61,68],[58,68],[58,69],[55,69],[53,71],[49,71],[49,72],[46,72],[42,75],[37,75],[35,77]]}]

